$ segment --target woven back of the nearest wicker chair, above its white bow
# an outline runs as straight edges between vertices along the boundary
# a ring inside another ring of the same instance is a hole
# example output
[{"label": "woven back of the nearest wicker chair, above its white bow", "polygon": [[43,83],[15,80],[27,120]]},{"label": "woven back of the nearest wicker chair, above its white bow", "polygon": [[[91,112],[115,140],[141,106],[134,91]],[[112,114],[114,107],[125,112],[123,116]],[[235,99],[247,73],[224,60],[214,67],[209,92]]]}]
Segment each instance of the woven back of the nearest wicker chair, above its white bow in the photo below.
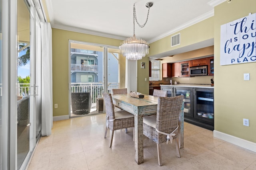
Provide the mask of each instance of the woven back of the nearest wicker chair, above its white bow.
[{"label": "woven back of the nearest wicker chair, above its white bow", "polygon": [[183,95],[158,98],[156,129],[171,133],[177,128],[183,99]]}]

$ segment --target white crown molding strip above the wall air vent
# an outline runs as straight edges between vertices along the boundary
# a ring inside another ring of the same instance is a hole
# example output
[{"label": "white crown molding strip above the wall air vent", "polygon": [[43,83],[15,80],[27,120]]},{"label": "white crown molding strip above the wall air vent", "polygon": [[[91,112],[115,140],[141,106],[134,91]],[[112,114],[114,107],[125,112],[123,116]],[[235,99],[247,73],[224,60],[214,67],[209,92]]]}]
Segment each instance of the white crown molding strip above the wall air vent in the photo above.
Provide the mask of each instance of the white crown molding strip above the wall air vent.
[{"label": "white crown molding strip above the wall air vent", "polygon": [[210,18],[210,17],[212,17],[212,16],[214,16],[214,10],[211,10],[211,11],[209,11],[209,12],[203,14],[202,16],[199,16],[199,17],[197,17],[197,18],[194,18],[193,20],[190,20],[189,22],[180,25],[179,27],[176,27],[176,28],[174,28],[174,29],[172,29],[172,30],[170,30],[170,31],[168,31],[168,32],[166,32],[166,33],[163,33],[163,34],[161,34],[161,35],[159,35],[159,36],[157,36],[157,37],[155,37],[155,38],[153,38],[153,39],[150,39],[150,41],[148,41],[148,43],[149,43],[149,44],[150,44],[150,43],[153,43],[153,42],[155,42],[155,41],[157,41],[157,40],[159,40],[159,39],[162,39],[162,38],[164,38],[164,37],[167,37],[168,35],[171,35],[171,34],[173,34],[173,33],[176,33],[176,32],[178,32],[178,31],[180,31],[180,30],[182,30],[182,29],[185,29],[185,28],[187,28],[187,27],[189,27],[189,26],[191,26],[191,25],[194,25],[194,24],[196,24],[196,23],[198,23],[198,22],[200,22],[200,21],[203,21],[203,20],[205,20],[205,19],[207,19],[207,18]]}]

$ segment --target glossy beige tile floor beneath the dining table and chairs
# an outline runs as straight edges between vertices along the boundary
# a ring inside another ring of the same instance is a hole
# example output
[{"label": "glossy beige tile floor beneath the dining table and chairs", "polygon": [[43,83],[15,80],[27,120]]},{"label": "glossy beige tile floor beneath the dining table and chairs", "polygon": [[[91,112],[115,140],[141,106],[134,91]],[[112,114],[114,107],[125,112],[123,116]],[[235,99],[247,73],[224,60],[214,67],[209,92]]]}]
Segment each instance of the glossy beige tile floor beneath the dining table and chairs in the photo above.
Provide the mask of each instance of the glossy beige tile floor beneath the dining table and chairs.
[{"label": "glossy beige tile floor beneath the dining table and chairs", "polygon": [[105,114],[54,121],[52,135],[41,137],[28,170],[256,170],[256,152],[213,137],[213,132],[184,123],[184,148],[162,144],[158,166],[156,144],[144,138],[144,163],[134,161],[132,128],[104,139]]}]

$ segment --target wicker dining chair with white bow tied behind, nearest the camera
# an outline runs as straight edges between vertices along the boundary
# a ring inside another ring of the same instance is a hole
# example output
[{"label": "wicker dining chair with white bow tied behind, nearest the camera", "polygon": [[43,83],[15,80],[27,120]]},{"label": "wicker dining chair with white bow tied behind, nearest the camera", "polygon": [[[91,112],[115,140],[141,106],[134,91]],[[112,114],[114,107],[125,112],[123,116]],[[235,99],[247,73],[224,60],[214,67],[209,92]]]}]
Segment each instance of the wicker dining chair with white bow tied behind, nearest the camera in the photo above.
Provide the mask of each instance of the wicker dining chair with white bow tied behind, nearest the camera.
[{"label": "wicker dining chair with white bow tied behind, nearest the camera", "polygon": [[161,143],[168,144],[169,140],[172,143],[172,139],[176,139],[176,152],[180,158],[178,124],[183,99],[183,95],[159,97],[156,115],[143,117],[143,135],[156,143],[159,166],[162,166]]}]

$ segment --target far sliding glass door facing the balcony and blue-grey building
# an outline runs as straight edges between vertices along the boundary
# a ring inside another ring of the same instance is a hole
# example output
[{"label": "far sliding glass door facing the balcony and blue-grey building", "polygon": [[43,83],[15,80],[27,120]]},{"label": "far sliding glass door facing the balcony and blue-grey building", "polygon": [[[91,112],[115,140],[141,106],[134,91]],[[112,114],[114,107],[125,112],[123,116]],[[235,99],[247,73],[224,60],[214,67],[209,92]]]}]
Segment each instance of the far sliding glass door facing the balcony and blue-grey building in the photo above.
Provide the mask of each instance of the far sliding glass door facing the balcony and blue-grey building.
[{"label": "far sliding glass door facing the balcony and blue-grey building", "polygon": [[[70,117],[102,112],[97,98],[101,98],[103,92],[111,93],[112,88],[119,88],[117,48],[70,41]],[[80,107],[78,96],[86,102],[86,107]]]}]

